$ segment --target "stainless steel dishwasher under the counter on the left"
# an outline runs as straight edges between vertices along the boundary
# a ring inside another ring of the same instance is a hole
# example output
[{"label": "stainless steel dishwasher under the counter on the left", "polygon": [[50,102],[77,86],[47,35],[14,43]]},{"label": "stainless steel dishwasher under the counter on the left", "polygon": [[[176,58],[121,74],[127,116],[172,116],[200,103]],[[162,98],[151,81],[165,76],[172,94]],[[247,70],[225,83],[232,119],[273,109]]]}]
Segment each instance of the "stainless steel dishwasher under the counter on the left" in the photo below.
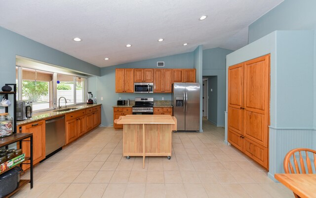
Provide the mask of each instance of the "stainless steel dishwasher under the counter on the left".
[{"label": "stainless steel dishwasher under the counter on the left", "polygon": [[65,145],[65,116],[46,120],[45,156],[50,157]]}]

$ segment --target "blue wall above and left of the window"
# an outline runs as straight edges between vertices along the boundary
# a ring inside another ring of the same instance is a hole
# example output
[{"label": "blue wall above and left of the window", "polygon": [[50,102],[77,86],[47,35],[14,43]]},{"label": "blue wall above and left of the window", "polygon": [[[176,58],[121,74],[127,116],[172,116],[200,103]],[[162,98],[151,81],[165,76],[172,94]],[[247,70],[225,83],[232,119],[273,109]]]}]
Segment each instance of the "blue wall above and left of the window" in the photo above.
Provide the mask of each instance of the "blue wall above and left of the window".
[{"label": "blue wall above and left of the window", "polygon": [[[23,56],[90,75],[100,75],[100,68],[56,49],[0,27],[0,87],[15,83],[15,56]],[[13,108],[9,108],[13,115]]]}]

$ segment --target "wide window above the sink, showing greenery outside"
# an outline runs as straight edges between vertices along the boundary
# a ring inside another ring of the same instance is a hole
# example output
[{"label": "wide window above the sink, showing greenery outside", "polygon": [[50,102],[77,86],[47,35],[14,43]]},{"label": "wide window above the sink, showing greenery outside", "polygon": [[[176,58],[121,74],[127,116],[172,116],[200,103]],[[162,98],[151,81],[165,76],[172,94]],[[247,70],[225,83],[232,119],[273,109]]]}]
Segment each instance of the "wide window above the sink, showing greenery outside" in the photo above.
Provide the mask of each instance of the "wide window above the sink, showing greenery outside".
[{"label": "wide window above the sink, showing greenery outside", "polygon": [[[57,108],[60,97],[66,98],[67,106],[84,103],[86,99],[86,77],[82,76],[17,66],[16,84],[17,98],[32,100],[35,112]],[[60,105],[65,106],[65,99],[60,99]]]}]

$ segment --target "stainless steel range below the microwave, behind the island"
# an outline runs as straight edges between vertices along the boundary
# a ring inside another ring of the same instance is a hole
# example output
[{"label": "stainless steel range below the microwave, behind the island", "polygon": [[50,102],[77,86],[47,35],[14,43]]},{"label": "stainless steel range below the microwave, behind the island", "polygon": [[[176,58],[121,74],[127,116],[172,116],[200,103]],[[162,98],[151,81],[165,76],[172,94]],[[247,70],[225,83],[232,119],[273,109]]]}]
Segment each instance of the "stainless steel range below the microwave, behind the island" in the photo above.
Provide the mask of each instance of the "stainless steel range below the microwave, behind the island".
[{"label": "stainless steel range below the microwave, behind the island", "polygon": [[154,98],[135,98],[133,114],[154,114]]}]

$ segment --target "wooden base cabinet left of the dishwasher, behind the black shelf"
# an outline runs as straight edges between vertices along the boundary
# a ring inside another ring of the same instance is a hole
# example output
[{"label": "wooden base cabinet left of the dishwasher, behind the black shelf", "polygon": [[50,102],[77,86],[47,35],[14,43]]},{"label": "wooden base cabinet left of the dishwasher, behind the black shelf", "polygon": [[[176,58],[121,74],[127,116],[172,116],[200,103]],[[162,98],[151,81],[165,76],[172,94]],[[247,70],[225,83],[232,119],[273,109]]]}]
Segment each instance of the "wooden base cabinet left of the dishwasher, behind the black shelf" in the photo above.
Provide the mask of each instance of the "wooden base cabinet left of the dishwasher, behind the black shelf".
[{"label": "wooden base cabinet left of the dishwasher, behind the black shelf", "polygon": [[[32,122],[22,126],[21,129],[22,133],[33,134],[33,164],[37,164],[45,158],[45,121]],[[26,156],[30,156],[30,142],[23,142],[22,149]],[[23,169],[29,167],[30,165],[23,164]]]}]

